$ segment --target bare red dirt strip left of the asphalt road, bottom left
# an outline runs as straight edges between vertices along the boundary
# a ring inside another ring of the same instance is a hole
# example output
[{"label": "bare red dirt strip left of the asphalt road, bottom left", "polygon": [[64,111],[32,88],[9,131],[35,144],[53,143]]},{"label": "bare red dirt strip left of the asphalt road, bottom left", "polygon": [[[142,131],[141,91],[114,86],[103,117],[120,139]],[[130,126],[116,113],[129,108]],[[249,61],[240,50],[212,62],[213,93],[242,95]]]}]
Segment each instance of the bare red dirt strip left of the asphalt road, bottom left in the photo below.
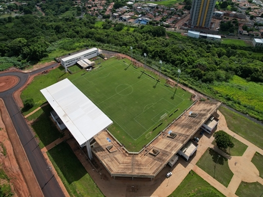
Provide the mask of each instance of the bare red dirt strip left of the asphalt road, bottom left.
[{"label": "bare red dirt strip left of the asphalt road, bottom left", "polygon": [[42,197],[42,191],[2,99],[0,99],[0,128],[2,128],[0,142],[6,149],[6,156],[0,154],[0,162],[14,185],[16,194],[19,197]]}]

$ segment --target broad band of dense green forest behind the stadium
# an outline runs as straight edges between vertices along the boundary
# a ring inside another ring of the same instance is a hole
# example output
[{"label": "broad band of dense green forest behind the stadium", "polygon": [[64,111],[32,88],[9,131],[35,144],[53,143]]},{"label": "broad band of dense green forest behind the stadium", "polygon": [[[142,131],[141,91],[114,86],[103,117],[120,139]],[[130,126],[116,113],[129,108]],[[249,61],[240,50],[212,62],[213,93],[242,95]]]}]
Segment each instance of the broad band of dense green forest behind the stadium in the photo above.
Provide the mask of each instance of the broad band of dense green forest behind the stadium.
[{"label": "broad band of dense green forest behind the stadium", "polygon": [[[189,86],[194,84],[193,88],[200,91],[204,87],[209,89],[214,82],[228,81],[233,75],[247,81],[263,82],[262,48],[193,39],[166,32],[160,26],[131,29],[108,19],[98,26],[96,19],[87,15],[76,19],[30,14],[1,18],[0,70],[34,64],[58,48],[72,51],[96,46],[130,54],[130,46],[133,46],[133,57],[144,61],[143,54],[147,53],[147,64],[153,67],[162,60],[162,72],[170,77],[176,77],[180,68],[183,81]],[[217,92],[211,90],[210,94],[213,96]],[[263,110],[253,105],[243,106],[239,100],[224,95],[222,100],[231,103],[232,107],[242,106],[238,109],[263,120]]]}]

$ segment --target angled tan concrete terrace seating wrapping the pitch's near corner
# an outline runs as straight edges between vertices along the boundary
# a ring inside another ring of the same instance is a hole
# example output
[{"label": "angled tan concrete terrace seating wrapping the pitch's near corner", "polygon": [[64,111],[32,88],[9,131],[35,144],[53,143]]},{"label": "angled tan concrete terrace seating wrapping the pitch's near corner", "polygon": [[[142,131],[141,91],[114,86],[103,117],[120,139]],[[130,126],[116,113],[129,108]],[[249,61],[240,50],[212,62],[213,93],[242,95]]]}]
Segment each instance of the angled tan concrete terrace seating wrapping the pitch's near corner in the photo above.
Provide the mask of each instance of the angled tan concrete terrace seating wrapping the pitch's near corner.
[{"label": "angled tan concrete terrace seating wrapping the pitch's near corner", "polygon": [[[114,178],[152,179],[217,111],[220,104],[197,101],[139,154],[127,153],[107,131],[95,137],[92,151]],[[197,113],[197,116],[190,117],[191,113]]]}]

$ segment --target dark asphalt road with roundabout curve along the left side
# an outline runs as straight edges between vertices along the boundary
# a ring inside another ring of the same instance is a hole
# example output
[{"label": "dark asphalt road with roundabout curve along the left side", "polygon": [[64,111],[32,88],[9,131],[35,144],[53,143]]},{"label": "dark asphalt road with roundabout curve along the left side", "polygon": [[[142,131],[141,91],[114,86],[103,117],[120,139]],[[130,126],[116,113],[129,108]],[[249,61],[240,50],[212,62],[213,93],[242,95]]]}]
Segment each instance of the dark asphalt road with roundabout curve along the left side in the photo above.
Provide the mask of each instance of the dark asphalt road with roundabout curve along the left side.
[{"label": "dark asphalt road with roundabout curve along the left side", "polygon": [[59,184],[52,174],[51,170],[47,170],[47,163],[43,157],[38,143],[34,138],[34,134],[31,128],[28,126],[24,116],[21,114],[20,108],[18,107],[15,99],[13,98],[13,93],[21,88],[28,80],[30,75],[41,73],[44,70],[50,69],[57,66],[58,64],[53,64],[44,68],[40,68],[36,71],[30,73],[23,72],[5,72],[0,73],[0,76],[14,75],[19,77],[19,82],[13,88],[0,93],[0,98],[3,99],[6,106],[7,112],[12,120],[14,128],[19,136],[22,146],[25,149],[28,160],[31,164],[33,172],[38,180],[38,184],[42,190],[45,197],[65,197]]}]

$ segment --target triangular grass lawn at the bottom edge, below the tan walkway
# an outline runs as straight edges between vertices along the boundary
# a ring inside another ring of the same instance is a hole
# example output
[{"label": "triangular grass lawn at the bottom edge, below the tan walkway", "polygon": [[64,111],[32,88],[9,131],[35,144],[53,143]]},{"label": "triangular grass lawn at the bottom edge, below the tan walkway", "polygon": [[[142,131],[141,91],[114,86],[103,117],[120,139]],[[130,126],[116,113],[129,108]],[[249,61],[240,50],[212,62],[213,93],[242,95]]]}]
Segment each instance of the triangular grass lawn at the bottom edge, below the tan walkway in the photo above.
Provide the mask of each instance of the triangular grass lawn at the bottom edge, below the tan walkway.
[{"label": "triangular grass lawn at the bottom edge, below the tan walkway", "polygon": [[169,197],[225,197],[195,172],[191,171],[191,174],[186,176]]}]

